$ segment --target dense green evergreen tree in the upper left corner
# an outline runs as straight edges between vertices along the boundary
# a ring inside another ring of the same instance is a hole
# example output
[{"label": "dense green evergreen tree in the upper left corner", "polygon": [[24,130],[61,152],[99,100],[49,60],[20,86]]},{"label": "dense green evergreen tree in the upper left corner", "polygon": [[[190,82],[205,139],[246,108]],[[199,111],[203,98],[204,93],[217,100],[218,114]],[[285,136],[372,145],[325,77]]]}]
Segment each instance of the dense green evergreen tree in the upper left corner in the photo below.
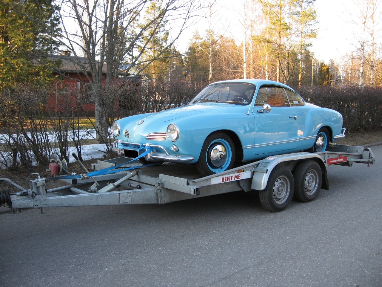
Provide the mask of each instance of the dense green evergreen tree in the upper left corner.
[{"label": "dense green evergreen tree in the upper left corner", "polygon": [[57,63],[58,6],[52,0],[0,0],[0,90],[16,83],[45,83]]}]

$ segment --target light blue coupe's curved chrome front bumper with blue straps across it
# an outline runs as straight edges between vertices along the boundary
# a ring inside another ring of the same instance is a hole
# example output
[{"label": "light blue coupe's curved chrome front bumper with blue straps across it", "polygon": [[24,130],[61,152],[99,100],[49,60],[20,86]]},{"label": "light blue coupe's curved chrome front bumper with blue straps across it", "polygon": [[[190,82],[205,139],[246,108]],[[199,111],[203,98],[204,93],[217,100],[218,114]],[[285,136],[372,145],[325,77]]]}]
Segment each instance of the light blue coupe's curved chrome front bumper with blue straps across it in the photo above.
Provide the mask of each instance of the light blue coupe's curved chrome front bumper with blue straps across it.
[{"label": "light blue coupe's curved chrome front bumper with blue straps across it", "polygon": [[[124,148],[118,148],[118,143],[122,145],[127,145],[127,147]],[[131,148],[129,148],[131,147]],[[161,145],[153,145],[150,142],[147,143],[133,143],[133,142],[125,142],[123,140],[115,140],[114,141],[114,148],[112,148],[113,152],[117,153],[117,155],[125,155],[124,150],[133,150],[136,151],[138,154],[143,153],[146,149],[142,147],[152,147],[155,148],[155,150],[162,150],[163,152],[151,152],[147,154],[144,158],[147,161],[168,161],[173,163],[181,163],[181,162],[187,162],[194,159],[191,155],[175,155],[175,154],[169,154],[164,147]]]}]

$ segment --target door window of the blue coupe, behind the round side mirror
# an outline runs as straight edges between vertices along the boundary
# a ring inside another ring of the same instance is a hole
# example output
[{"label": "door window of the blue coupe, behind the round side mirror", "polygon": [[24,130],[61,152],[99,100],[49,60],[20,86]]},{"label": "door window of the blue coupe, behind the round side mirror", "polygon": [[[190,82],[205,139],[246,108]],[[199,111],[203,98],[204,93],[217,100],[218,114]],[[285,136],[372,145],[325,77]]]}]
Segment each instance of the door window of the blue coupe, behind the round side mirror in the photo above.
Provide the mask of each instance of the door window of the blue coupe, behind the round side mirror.
[{"label": "door window of the blue coupe, behind the round side mirror", "polygon": [[257,92],[255,105],[269,104],[274,107],[289,106],[285,91],[281,87],[261,87]]}]

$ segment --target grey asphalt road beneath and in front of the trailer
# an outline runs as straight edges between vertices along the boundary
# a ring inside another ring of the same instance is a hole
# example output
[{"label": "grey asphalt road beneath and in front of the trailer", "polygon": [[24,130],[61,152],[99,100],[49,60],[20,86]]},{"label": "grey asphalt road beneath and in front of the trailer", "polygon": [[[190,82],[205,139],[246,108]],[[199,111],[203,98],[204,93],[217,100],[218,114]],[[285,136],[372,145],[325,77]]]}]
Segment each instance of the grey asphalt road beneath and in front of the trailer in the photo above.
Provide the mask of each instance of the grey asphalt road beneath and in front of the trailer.
[{"label": "grey asphalt road beneath and in front of the trailer", "polygon": [[382,146],[279,213],[256,193],[165,205],[0,207],[0,286],[382,286]]}]

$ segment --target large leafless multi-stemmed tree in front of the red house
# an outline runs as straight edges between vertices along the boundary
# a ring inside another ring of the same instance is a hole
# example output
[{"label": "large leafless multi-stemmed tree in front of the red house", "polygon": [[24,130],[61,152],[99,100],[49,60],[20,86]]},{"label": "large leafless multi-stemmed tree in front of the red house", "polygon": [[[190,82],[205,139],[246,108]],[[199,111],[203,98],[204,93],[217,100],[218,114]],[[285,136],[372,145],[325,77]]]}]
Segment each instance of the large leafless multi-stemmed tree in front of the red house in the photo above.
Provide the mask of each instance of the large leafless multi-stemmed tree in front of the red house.
[{"label": "large leafless multi-stemmed tree in front of the red house", "polygon": [[[147,17],[151,5],[159,7],[157,13]],[[108,115],[105,113],[104,93],[120,74],[124,60],[131,65],[150,65],[178,39],[202,8],[198,0],[62,0],[62,44],[73,52],[76,64],[91,84],[95,103],[95,129],[97,139],[107,142]],[[142,17],[146,15],[146,17]],[[75,24],[77,29],[69,29]],[[141,62],[141,56],[166,25],[170,36],[154,58]],[[84,55],[85,62],[79,61]],[[107,63],[105,67],[104,63]],[[107,98],[107,97],[106,97]]]}]

